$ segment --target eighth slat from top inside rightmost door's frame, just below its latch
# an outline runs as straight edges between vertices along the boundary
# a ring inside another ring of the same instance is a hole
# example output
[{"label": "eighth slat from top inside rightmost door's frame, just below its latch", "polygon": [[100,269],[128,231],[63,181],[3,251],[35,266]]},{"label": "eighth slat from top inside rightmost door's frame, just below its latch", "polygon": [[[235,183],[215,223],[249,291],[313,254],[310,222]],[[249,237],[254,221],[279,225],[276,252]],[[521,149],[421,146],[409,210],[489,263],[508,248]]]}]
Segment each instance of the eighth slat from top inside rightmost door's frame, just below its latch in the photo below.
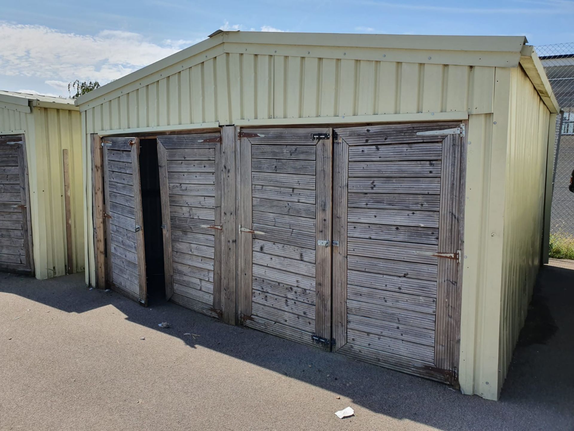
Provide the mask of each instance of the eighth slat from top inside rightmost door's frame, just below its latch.
[{"label": "eighth slat from top inside rightmost door's frame, just below its latch", "polygon": [[437,274],[436,265],[353,255],[347,257],[347,267],[350,270],[430,281],[436,281]]}]

